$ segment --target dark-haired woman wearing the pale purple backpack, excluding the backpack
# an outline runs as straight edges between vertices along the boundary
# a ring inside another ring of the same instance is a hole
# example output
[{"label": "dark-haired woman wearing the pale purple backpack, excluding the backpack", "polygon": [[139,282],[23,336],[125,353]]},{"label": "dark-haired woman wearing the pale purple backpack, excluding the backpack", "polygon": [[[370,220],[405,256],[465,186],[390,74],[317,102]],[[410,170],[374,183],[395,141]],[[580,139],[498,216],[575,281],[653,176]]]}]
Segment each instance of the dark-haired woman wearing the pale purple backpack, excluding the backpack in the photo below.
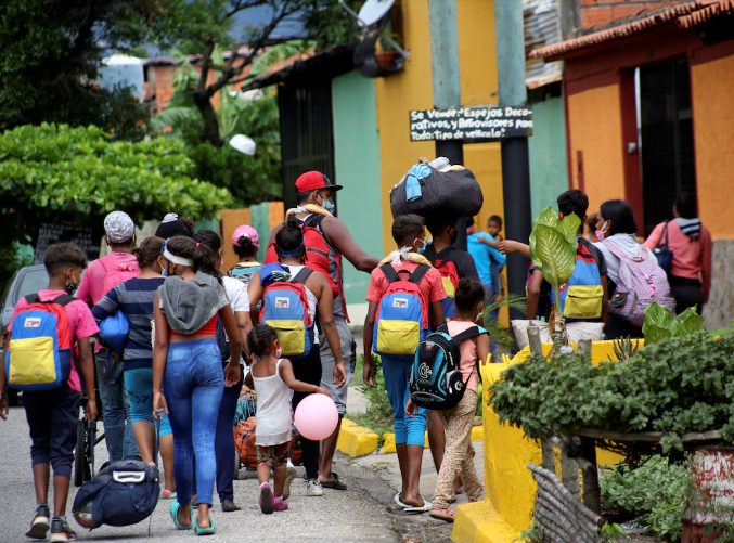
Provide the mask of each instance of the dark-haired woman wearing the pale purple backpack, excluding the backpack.
[{"label": "dark-haired woman wearing the pale purple backpack, excluding the backpack", "polygon": [[[596,237],[604,241],[614,242],[617,247],[630,255],[638,257],[640,251],[646,251],[647,257],[657,262],[657,258],[652,250],[638,242],[638,227],[634,223],[632,208],[622,199],[610,199],[602,204],[598,211],[598,222],[596,223]],[[619,257],[614,255],[604,242],[594,243],[594,247],[602,251],[606,262],[607,277],[609,280],[608,292],[609,299],[614,296],[619,281]],[[642,328],[633,325],[626,319],[609,313],[609,318],[604,328],[607,339],[619,337],[643,337]]]}]

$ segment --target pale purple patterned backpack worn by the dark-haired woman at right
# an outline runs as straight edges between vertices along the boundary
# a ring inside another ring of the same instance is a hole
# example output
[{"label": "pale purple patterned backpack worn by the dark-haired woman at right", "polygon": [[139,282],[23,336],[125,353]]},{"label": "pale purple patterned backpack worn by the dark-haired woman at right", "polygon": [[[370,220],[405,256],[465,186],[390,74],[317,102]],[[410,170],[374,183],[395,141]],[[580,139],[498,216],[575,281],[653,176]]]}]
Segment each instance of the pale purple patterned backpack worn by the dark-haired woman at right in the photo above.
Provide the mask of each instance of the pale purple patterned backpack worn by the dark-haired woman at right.
[{"label": "pale purple patterned backpack worn by the dark-haired woman at right", "polygon": [[631,257],[614,242],[606,240],[603,243],[619,258],[619,280],[609,300],[610,313],[627,319],[635,326],[642,326],[645,322],[645,309],[657,301],[675,314],[675,300],[670,296],[668,275],[642,245],[639,256]]}]

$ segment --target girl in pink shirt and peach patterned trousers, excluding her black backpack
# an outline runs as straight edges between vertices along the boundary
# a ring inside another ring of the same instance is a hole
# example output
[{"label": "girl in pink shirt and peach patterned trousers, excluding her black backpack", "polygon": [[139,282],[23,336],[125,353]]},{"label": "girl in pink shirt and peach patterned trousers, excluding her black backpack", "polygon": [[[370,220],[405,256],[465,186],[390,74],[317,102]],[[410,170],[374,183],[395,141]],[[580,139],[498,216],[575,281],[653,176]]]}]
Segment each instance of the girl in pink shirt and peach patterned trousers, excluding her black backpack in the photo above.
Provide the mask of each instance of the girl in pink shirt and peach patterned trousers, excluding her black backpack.
[{"label": "girl in pink shirt and peach patterned trousers, excluding her black backpack", "polygon": [[[481,482],[479,482],[474,469],[472,424],[477,410],[478,361],[481,361],[484,365],[489,358],[489,335],[487,331],[474,323],[485,308],[485,292],[481,283],[467,279],[461,280],[456,288],[455,300],[456,316],[449,321],[442,329],[452,338],[460,340],[458,346],[461,359],[459,367],[462,383],[465,386],[460,388],[460,390],[463,389],[463,396],[458,405],[448,410],[436,411],[447,427],[446,452],[436,482],[433,507],[429,512],[432,517],[447,522],[453,522],[454,512],[449,508],[449,503],[454,496],[453,482],[456,477],[461,477],[469,502],[481,500]],[[468,337],[469,335],[474,335],[474,337]],[[462,337],[466,338],[461,340]],[[413,403],[412,399],[408,400],[405,413],[411,418],[416,417],[420,413],[418,406]]]}]

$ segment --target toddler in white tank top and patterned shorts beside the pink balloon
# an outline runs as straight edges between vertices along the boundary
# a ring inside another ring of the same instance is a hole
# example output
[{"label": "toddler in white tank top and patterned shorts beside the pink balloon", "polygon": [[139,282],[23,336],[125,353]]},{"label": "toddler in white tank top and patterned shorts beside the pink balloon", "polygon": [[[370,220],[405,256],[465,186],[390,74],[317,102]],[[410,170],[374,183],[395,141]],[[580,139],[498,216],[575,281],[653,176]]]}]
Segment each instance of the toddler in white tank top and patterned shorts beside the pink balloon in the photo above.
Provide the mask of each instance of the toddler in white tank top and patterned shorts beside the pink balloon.
[{"label": "toddler in white tank top and patterned shorts beside the pink balloon", "polygon": [[[257,395],[257,477],[260,481],[260,510],[267,515],[285,510],[291,494],[291,480],[286,477],[288,452],[293,432],[291,414],[291,389],[300,393],[329,392],[317,386],[296,379],[294,365],[281,358],[283,349],[278,333],[268,325],[255,326],[247,335],[247,346],[257,362],[254,362],[245,384],[255,388]],[[272,469],[274,488],[270,487]],[[274,493],[273,493],[274,490]]]}]

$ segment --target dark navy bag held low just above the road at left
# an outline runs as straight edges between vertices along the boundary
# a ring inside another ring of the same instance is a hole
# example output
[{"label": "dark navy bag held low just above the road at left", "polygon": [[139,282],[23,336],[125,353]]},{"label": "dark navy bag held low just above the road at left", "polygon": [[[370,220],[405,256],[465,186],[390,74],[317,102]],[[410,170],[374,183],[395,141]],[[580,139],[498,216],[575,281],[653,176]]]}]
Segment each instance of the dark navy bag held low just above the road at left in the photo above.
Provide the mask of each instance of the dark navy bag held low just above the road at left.
[{"label": "dark navy bag held low just above the road at left", "polygon": [[[160,435],[159,421],[157,435]],[[91,456],[93,474],[93,445]],[[160,495],[157,437],[155,458],[155,466],[149,466],[138,460],[112,462],[103,466],[94,479],[85,482],[77,492],[72,507],[79,526],[90,530],[102,525],[130,526],[150,517]]]}]

